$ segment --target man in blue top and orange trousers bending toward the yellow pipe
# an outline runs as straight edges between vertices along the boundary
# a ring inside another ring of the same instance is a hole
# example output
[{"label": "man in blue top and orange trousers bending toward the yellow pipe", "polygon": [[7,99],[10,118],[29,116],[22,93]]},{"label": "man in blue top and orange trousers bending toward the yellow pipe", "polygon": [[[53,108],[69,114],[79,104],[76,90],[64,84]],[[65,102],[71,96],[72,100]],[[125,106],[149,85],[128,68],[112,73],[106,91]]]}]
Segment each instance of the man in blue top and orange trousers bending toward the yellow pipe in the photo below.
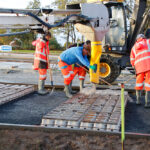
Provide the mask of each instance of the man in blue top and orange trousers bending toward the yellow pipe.
[{"label": "man in blue top and orange trousers bending toward the yellow pipe", "polygon": [[72,97],[69,85],[75,76],[74,71],[72,69],[72,64],[81,63],[87,68],[90,67],[94,71],[96,70],[96,67],[94,65],[90,66],[89,60],[87,59],[87,55],[90,50],[91,44],[85,43],[83,47],[71,47],[65,50],[58,58],[58,65],[64,77],[64,84],[65,84],[64,91],[66,93],[66,96],[69,98]]}]

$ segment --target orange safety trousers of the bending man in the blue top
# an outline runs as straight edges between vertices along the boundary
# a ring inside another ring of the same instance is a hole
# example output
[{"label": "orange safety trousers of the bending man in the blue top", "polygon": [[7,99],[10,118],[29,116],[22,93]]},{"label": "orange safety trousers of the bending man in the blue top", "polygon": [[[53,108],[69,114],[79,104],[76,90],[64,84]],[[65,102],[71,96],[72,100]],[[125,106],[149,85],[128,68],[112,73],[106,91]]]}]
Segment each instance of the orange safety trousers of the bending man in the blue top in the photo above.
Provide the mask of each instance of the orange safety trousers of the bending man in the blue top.
[{"label": "orange safety trousers of the bending man in the blue top", "polygon": [[64,77],[64,84],[69,85],[74,78],[74,72],[72,70],[72,65],[68,65],[60,58],[58,59],[58,66]]}]

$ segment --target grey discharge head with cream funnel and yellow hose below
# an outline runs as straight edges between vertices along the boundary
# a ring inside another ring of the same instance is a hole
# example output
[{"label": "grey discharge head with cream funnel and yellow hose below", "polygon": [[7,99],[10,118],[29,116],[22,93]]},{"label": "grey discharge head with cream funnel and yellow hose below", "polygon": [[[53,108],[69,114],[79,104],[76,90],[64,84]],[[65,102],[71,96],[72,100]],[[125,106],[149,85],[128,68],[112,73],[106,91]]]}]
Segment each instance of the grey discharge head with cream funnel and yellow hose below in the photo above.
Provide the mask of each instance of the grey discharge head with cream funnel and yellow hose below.
[{"label": "grey discharge head with cream funnel and yellow hose below", "polygon": [[83,15],[87,15],[94,19],[89,24],[77,23],[75,24],[75,27],[87,40],[91,41],[90,65],[95,65],[97,69],[96,71],[90,69],[90,81],[99,84],[100,57],[102,54],[101,41],[109,30],[108,10],[103,4],[90,3],[83,4],[81,7]]}]

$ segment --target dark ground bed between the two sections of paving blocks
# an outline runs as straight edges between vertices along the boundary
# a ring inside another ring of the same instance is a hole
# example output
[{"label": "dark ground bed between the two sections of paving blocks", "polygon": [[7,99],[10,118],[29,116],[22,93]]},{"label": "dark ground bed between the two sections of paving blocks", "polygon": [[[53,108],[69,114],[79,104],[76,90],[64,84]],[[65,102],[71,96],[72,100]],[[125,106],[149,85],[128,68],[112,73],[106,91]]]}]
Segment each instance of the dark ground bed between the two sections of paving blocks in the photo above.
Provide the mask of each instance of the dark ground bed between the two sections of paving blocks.
[{"label": "dark ground bed between the two sections of paving blocks", "polygon": [[62,91],[40,96],[36,92],[0,106],[0,123],[40,125],[42,116],[67,100]]}]

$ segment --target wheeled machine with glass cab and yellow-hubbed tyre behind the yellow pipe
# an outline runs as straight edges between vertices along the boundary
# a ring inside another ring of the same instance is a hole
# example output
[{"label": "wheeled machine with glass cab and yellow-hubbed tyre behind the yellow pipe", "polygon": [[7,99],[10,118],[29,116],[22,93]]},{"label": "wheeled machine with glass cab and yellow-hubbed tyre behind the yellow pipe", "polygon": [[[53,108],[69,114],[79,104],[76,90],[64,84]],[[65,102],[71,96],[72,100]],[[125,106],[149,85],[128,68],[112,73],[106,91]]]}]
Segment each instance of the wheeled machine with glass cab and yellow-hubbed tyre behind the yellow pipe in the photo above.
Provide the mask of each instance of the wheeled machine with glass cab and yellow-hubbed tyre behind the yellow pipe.
[{"label": "wheeled machine with glass cab and yellow-hubbed tyre behind the yellow pipe", "polygon": [[132,1],[132,9],[124,0],[88,1],[95,3],[101,1],[109,11],[110,29],[103,39],[104,48],[100,59],[100,77],[111,83],[125,68],[134,73],[130,65],[130,51],[137,34],[144,33],[148,38],[150,37],[150,1]]}]

